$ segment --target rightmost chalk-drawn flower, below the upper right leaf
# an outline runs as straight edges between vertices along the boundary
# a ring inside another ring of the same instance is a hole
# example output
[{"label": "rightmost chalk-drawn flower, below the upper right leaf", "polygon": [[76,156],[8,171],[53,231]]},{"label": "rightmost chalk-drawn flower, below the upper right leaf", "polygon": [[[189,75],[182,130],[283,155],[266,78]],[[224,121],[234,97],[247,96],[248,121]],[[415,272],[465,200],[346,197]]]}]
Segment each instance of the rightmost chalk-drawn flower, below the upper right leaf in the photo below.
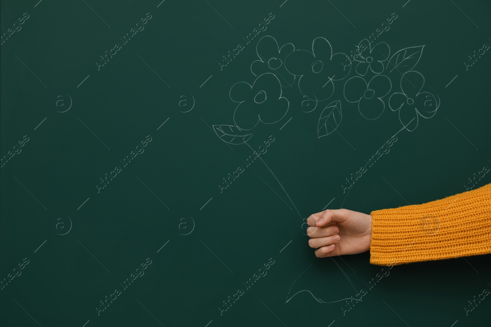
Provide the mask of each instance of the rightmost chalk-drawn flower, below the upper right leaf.
[{"label": "rightmost chalk-drawn flower, below the upper right leaf", "polygon": [[[408,131],[418,126],[419,117],[432,118],[440,106],[440,99],[430,92],[421,92],[425,77],[416,71],[402,75],[401,91],[393,93],[389,98],[392,111],[399,110],[399,120]],[[438,97],[438,96],[437,96]]]}]

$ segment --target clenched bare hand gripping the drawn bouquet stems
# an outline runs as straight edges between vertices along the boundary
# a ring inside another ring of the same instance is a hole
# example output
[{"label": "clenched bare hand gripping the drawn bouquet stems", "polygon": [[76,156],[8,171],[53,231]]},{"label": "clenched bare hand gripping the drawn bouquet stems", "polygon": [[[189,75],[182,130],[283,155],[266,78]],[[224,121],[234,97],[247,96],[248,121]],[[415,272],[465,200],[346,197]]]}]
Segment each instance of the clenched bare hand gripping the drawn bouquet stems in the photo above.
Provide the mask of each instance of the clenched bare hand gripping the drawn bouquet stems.
[{"label": "clenched bare hand gripping the drawn bouquet stems", "polygon": [[308,244],[319,258],[370,250],[372,216],[347,209],[324,210],[307,219]]}]

